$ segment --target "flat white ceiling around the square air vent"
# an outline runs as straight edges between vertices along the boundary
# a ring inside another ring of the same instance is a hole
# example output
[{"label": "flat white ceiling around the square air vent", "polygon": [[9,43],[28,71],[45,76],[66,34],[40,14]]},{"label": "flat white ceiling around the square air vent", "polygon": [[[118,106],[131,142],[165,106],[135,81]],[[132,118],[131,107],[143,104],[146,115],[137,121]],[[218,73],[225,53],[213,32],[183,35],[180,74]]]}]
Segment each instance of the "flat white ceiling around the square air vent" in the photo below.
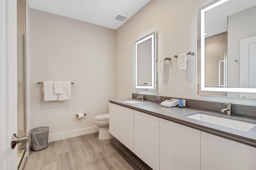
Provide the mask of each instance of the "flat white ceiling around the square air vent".
[{"label": "flat white ceiling around the square air vent", "polygon": [[[118,29],[150,0],[28,0],[36,10]],[[115,20],[117,15],[127,17]]]}]

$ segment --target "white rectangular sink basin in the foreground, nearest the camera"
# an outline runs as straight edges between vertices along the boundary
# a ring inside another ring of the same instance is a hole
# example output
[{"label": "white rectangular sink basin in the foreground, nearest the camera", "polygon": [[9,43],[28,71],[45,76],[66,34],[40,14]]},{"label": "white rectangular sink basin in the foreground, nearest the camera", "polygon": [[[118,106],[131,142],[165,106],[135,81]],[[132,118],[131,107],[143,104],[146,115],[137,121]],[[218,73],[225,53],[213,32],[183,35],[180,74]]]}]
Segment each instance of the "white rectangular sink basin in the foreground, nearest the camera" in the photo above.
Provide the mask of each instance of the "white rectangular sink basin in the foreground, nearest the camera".
[{"label": "white rectangular sink basin in the foreground, nearest the camera", "polygon": [[194,115],[188,115],[186,117],[208,122],[208,123],[213,123],[215,125],[230,127],[232,129],[237,129],[240,131],[249,131],[250,129],[256,126],[256,124],[253,124],[253,123],[248,123],[248,122],[238,121],[233,119],[226,119],[223,117],[217,117],[217,116],[207,115],[203,113],[196,113]]}]

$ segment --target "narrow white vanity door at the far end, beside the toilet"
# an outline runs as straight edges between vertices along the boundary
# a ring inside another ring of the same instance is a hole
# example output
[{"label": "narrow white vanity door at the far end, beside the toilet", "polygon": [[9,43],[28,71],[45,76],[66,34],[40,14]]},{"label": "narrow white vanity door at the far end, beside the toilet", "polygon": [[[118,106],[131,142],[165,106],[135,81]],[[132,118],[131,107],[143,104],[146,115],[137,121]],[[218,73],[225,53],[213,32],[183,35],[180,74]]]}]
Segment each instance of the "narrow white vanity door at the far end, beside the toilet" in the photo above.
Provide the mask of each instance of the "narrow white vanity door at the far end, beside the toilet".
[{"label": "narrow white vanity door at the far end, beside the toilet", "polygon": [[109,133],[120,141],[120,106],[109,103]]}]

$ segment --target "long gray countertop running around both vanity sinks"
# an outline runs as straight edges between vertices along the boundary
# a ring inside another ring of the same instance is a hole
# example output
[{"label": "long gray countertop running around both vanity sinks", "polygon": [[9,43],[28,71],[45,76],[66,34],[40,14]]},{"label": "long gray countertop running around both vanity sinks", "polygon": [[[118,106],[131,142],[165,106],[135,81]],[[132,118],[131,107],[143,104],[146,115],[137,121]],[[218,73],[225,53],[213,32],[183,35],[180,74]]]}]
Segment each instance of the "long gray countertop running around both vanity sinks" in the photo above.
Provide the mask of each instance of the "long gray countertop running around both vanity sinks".
[{"label": "long gray countertop running around both vanity sinks", "polygon": [[180,107],[163,107],[160,104],[156,104],[151,101],[141,101],[140,104],[128,104],[126,102],[122,102],[125,100],[136,100],[136,99],[115,99],[109,100],[110,103],[118,104],[120,106],[128,107],[137,111],[142,111],[144,113],[160,117],[162,119],[174,121],[176,123],[180,123],[195,129],[199,129],[201,131],[205,131],[208,133],[212,133],[214,135],[219,135],[221,137],[226,137],[228,139],[232,139],[234,141],[242,142],[247,145],[251,145],[256,147],[256,127],[250,129],[249,131],[240,131],[236,129],[232,129],[229,127],[224,127],[220,125],[215,125],[212,123],[207,123],[204,121],[199,121],[195,119],[191,119],[185,117],[186,115],[190,115],[197,112],[208,113],[210,115],[216,115],[218,117],[225,117],[227,119],[235,119],[239,121],[245,121],[256,124],[256,119],[240,117],[240,116],[226,116],[224,113],[216,113],[212,111],[205,111],[194,108],[180,108]]}]

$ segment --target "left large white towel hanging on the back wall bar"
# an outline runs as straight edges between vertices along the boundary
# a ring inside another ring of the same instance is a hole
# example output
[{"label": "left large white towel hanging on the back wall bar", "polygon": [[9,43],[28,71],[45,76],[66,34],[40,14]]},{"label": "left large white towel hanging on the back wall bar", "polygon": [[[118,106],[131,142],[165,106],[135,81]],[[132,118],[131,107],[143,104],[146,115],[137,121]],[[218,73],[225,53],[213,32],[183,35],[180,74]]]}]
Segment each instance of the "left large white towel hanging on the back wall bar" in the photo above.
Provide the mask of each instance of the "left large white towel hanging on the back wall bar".
[{"label": "left large white towel hanging on the back wall bar", "polygon": [[54,94],[53,81],[43,82],[43,92],[44,92],[44,102],[58,100],[58,94]]}]

